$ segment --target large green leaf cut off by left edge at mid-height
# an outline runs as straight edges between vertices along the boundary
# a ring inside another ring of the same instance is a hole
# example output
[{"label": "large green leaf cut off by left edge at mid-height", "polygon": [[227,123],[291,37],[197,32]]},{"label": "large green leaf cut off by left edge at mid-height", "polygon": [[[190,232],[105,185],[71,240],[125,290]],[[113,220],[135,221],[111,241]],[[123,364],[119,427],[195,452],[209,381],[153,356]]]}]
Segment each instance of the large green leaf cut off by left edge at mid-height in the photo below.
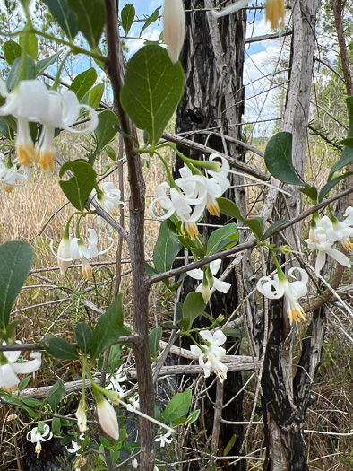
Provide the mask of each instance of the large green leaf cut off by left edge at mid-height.
[{"label": "large green leaf cut off by left edge at mid-height", "polygon": [[9,323],[13,301],[30,273],[33,249],[20,240],[4,242],[0,246],[0,329]]}]

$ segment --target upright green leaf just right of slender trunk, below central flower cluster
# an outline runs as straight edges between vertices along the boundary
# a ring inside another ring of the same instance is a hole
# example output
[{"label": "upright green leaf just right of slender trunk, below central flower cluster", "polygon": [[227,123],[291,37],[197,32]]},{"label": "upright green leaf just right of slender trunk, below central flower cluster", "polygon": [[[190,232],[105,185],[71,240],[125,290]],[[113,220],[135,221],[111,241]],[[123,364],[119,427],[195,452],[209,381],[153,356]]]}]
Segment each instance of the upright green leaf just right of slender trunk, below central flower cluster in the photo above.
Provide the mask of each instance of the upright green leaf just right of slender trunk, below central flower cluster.
[{"label": "upright green leaf just right of slender trunk, below central flower cluster", "polygon": [[182,247],[174,223],[168,219],[163,221],[160,224],[159,236],[153,250],[153,264],[157,273],[170,270]]}]

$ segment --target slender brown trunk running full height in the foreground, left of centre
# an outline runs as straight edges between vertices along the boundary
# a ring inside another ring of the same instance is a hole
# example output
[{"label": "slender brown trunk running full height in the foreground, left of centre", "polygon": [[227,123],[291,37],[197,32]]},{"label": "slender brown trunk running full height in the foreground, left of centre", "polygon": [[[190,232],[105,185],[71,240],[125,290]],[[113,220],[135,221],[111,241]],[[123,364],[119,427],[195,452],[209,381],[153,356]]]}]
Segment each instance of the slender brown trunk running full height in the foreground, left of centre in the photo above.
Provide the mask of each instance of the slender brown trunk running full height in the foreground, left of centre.
[{"label": "slender brown trunk running full height in the foreground, left of centre", "polygon": [[[107,8],[107,45],[109,62],[107,65],[110,77],[116,112],[120,126],[125,135],[136,136],[136,129],[125,114],[120,103],[120,90],[125,79],[123,50],[118,31],[116,0],[106,0]],[[144,194],[145,184],[142,173],[142,162],[139,155],[133,152],[133,141],[124,136],[130,186],[130,234],[129,251],[133,272],[133,328],[138,336],[134,345],[137,382],[139,385],[140,407],[144,414],[153,416],[154,394],[151,375],[151,362],[148,346],[149,304],[148,287],[144,271]],[[151,422],[140,417],[141,469],[153,469],[153,427]]]}]

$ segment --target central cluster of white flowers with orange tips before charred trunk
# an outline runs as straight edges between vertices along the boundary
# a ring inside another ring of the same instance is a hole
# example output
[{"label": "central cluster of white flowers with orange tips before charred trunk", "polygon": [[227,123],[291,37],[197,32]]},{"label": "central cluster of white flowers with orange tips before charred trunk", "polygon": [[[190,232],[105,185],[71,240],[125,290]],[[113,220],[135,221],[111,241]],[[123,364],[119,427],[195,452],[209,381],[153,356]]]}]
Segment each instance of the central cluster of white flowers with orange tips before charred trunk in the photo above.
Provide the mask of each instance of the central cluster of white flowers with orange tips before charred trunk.
[{"label": "central cluster of white flowers with orange tips before charred trunk", "polygon": [[[157,198],[151,202],[149,213],[151,217],[159,220],[168,219],[175,214],[182,222],[182,232],[188,233],[191,239],[198,236],[196,223],[202,218],[202,214],[207,207],[213,215],[220,215],[220,207],[216,201],[229,188],[230,183],[227,178],[229,164],[224,157],[217,153],[210,155],[210,161],[220,159],[222,164],[215,163],[215,170],[208,170],[211,178],[204,177],[201,172],[194,174],[187,165],[179,170],[180,179],[176,179],[174,186],[170,187],[167,181],[160,183],[156,188]],[[219,170],[219,171],[216,171]],[[170,191],[170,198],[166,191]],[[155,206],[159,203],[165,214],[159,215],[155,212]],[[192,208],[194,206],[194,209]]]}]

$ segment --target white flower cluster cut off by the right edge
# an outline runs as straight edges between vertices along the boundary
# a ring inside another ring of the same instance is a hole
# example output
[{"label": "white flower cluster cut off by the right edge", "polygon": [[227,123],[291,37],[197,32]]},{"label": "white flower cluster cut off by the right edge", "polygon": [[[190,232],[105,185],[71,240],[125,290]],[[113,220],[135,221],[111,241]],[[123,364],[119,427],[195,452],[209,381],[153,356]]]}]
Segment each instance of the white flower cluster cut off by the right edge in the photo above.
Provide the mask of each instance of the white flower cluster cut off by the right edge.
[{"label": "white flower cluster cut off by the right edge", "polygon": [[350,237],[353,236],[353,208],[349,206],[344,214],[345,220],[339,221],[333,215],[331,219],[327,216],[314,217],[309,230],[307,246],[311,251],[317,252],[315,272],[320,275],[326,262],[326,255],[333,258],[340,265],[350,267],[349,258],[340,250],[333,249],[336,242],[340,242],[342,247],[349,251],[353,248]]}]

